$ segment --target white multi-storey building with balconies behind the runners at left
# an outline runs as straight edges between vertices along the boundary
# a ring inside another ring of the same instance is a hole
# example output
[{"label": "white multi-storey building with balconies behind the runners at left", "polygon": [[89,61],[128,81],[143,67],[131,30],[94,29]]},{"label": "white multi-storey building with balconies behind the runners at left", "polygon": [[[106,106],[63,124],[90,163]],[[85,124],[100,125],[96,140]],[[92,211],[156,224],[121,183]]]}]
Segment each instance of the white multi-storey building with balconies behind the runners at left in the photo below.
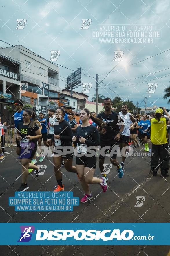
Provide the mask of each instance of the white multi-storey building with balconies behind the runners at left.
[{"label": "white multi-storey building with balconies behind the runners at left", "polygon": [[[61,88],[59,87],[59,67],[57,65],[41,58],[22,45],[1,48],[0,56],[6,58],[6,62],[1,63],[3,79],[0,77],[0,91],[2,89],[3,93],[12,93],[13,100],[22,99],[25,104],[39,110],[42,107],[48,109],[49,99],[59,97]],[[6,72],[3,71],[3,67]],[[17,75],[15,76],[12,72]],[[19,84],[23,85],[26,90],[21,90],[18,93]]]}]

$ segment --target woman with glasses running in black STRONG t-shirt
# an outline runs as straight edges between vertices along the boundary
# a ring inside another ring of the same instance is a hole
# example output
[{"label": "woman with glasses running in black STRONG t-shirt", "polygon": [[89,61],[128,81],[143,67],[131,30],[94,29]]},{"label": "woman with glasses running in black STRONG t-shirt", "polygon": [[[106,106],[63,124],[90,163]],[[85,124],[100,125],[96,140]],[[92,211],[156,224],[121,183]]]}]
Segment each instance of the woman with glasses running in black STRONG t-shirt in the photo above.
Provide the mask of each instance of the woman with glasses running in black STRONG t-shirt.
[{"label": "woman with glasses running in black STRONG t-shirt", "polygon": [[[30,163],[36,153],[37,141],[41,138],[41,131],[36,124],[36,117],[29,109],[23,111],[23,122],[19,122],[17,126],[17,147],[20,148],[19,159],[22,166],[22,184],[17,190],[23,192],[29,187],[27,185],[28,168],[39,171],[38,166]],[[30,120],[32,118],[32,121]]]}]

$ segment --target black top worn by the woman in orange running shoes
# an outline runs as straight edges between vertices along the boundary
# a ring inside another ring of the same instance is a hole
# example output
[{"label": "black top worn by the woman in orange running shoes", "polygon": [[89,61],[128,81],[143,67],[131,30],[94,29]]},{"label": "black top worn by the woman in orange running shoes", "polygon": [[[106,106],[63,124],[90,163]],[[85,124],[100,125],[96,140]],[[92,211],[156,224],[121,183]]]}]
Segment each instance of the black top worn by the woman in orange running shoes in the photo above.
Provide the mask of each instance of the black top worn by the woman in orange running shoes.
[{"label": "black top worn by the woman in orange running shoes", "polygon": [[[60,135],[61,146],[72,146],[73,133],[70,124],[66,120],[54,125],[54,134]],[[54,141],[54,136],[51,140]]]}]

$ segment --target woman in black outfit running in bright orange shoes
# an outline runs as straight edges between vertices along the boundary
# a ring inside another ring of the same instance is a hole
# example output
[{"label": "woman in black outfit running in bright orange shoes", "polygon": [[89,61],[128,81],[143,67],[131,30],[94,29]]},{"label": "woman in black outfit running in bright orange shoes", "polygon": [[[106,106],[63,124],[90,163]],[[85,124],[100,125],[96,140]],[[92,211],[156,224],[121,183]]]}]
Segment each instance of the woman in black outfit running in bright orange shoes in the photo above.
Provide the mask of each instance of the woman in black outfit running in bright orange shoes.
[{"label": "woman in black outfit running in bright orange shoes", "polygon": [[[54,136],[47,140],[47,142],[55,146],[53,149],[54,157],[54,173],[58,185],[55,186],[54,192],[64,191],[64,185],[62,183],[61,163],[64,158],[64,166],[68,172],[76,173],[76,167],[72,166],[73,163],[73,152],[74,147],[72,146],[72,129],[70,124],[64,120],[65,111],[64,109],[56,110],[57,122],[54,123]],[[68,150],[68,151],[67,151]],[[68,153],[67,153],[67,152]],[[69,151],[71,153],[69,153]]]}]

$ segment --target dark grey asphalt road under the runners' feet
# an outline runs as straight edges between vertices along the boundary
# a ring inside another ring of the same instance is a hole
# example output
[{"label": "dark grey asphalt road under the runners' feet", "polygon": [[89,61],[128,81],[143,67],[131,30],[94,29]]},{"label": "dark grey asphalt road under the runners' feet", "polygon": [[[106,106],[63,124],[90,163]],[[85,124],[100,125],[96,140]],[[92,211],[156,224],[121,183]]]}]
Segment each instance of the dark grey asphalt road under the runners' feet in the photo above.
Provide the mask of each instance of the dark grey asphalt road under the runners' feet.
[{"label": "dark grey asphalt road under the runners' feet", "polygon": [[[143,146],[135,149],[143,152]],[[10,154],[0,162],[1,181],[1,222],[169,222],[169,185],[170,176],[167,178],[149,175],[150,157],[127,157],[125,161],[124,177],[118,178],[116,168],[113,166],[109,173],[108,191],[103,193],[98,184],[90,185],[93,200],[86,204],[74,207],[73,212],[15,212],[14,207],[8,206],[8,198],[14,196],[14,192],[21,184],[21,166],[17,161],[14,148],[10,148]],[[117,158],[121,161],[121,158]],[[43,176],[29,175],[28,191],[53,191],[56,185],[53,159],[46,157],[43,164],[47,170]],[[73,161],[75,165],[75,157]],[[108,160],[105,163],[109,163]],[[69,173],[64,167],[63,184],[65,191],[73,191],[74,196],[80,199],[84,196],[77,175]],[[100,175],[98,164],[95,175]],[[142,207],[135,207],[136,196],[145,196]],[[152,256],[167,255],[169,246],[1,246],[2,255],[30,256],[30,255],[69,255],[69,256]]]}]

